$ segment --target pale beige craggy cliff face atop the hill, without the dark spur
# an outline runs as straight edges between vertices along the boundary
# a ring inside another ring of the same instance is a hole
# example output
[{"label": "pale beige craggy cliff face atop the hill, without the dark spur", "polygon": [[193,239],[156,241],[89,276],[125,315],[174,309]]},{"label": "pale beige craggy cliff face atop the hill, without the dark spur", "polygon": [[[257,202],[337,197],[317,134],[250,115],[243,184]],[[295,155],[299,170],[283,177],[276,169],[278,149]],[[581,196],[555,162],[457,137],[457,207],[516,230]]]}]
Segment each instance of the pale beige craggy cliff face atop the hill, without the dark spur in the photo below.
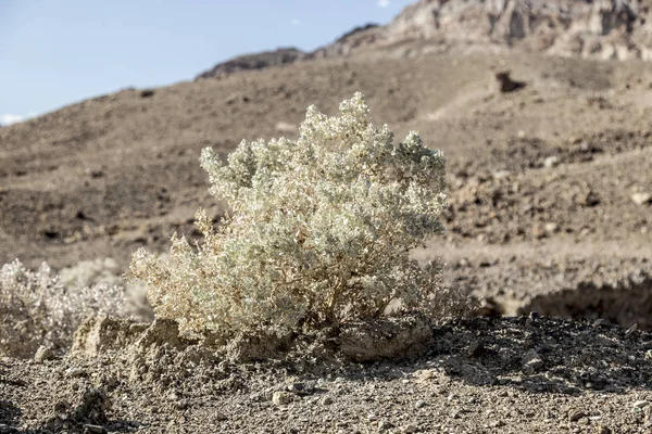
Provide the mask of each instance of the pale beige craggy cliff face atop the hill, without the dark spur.
[{"label": "pale beige craggy cliff face atop the hill, without the dark spur", "polygon": [[652,60],[651,10],[644,0],[421,0],[376,30],[375,41],[425,40],[446,50],[521,46],[566,56]]}]

